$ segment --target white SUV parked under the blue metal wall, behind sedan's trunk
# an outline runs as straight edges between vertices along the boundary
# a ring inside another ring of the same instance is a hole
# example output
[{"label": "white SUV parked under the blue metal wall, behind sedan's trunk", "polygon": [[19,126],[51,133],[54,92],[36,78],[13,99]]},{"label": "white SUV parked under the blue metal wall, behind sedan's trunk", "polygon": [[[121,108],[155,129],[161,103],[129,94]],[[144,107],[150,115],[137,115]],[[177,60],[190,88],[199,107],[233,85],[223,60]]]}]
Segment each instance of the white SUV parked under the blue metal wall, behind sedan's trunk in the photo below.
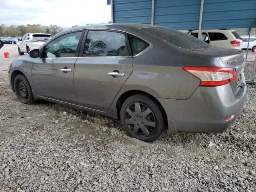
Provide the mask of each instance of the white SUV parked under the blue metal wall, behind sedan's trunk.
[{"label": "white SUV parked under the blue metal wall, behind sedan's trunk", "polygon": [[[198,30],[190,30],[188,34],[198,38]],[[241,49],[243,39],[236,33],[236,30],[209,29],[202,30],[203,41],[212,46]]]}]

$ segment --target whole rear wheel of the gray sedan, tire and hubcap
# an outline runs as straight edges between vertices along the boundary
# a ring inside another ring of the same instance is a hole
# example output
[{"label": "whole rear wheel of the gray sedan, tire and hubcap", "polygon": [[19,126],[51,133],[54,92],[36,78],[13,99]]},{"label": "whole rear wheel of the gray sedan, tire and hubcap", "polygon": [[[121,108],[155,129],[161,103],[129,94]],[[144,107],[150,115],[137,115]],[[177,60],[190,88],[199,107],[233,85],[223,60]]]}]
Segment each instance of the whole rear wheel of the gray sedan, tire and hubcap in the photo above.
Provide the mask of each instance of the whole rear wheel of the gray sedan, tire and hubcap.
[{"label": "whole rear wheel of the gray sedan, tire and hubcap", "polygon": [[144,94],[130,96],[120,110],[122,126],[126,133],[145,142],[152,142],[161,136],[166,125],[164,114],[160,104]]}]

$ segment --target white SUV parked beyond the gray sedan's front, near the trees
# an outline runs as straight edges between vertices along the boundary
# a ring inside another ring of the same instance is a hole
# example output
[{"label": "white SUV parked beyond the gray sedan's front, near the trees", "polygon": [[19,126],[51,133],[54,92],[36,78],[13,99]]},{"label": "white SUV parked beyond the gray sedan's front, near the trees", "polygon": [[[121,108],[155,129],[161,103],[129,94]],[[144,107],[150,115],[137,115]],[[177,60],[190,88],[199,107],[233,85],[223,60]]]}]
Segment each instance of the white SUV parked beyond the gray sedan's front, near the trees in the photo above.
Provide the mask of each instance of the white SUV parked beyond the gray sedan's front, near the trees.
[{"label": "white SUV parked beyond the gray sedan's front, near the trees", "polygon": [[27,33],[24,34],[22,39],[17,43],[19,55],[24,55],[30,50],[38,49],[44,42],[50,39],[50,34],[43,33]]}]

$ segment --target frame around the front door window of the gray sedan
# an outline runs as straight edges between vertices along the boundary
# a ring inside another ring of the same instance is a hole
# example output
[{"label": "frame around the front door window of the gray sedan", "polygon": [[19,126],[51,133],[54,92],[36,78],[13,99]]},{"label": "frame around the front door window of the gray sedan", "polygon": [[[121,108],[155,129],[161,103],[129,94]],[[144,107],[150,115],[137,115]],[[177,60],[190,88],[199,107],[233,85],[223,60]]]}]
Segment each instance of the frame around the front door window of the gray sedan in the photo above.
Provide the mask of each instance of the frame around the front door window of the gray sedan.
[{"label": "frame around the front door window of the gray sedan", "polygon": [[[61,36],[64,36],[66,34],[70,34],[70,33],[75,33],[75,32],[82,32],[81,36],[80,36],[80,39],[78,41],[78,45],[77,45],[77,48],[76,48],[76,53],[75,53],[75,56],[74,57],[56,57],[56,58],[48,58],[48,57],[42,57],[43,54],[44,54],[44,48],[50,44],[52,41],[54,41],[55,39],[61,37]],[[72,31],[68,31],[66,33],[62,33],[58,36],[56,36],[55,38],[51,38],[49,40],[49,42],[47,42],[47,44],[45,44],[42,48],[39,49],[39,58],[42,58],[42,59],[64,59],[64,58],[77,58],[78,57],[78,54],[79,54],[79,51],[80,51],[80,46],[81,46],[81,43],[82,43],[82,39],[84,37],[84,33],[85,33],[85,30],[84,29],[80,29],[80,30],[72,30]]]}]

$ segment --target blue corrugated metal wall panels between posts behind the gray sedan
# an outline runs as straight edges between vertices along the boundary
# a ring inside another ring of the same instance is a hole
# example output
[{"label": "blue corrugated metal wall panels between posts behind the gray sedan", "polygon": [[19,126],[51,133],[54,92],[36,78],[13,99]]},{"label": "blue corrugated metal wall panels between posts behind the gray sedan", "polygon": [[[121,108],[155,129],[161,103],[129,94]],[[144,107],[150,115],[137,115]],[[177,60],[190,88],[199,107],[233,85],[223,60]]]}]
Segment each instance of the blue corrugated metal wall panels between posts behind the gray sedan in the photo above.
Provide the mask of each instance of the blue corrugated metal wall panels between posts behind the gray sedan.
[{"label": "blue corrugated metal wall panels between posts behind the gray sedan", "polygon": [[[151,23],[152,0],[113,0],[114,23]],[[110,4],[110,0],[108,0]],[[154,24],[198,29],[201,0],[155,0]],[[202,29],[256,26],[256,0],[204,0]]]}]

